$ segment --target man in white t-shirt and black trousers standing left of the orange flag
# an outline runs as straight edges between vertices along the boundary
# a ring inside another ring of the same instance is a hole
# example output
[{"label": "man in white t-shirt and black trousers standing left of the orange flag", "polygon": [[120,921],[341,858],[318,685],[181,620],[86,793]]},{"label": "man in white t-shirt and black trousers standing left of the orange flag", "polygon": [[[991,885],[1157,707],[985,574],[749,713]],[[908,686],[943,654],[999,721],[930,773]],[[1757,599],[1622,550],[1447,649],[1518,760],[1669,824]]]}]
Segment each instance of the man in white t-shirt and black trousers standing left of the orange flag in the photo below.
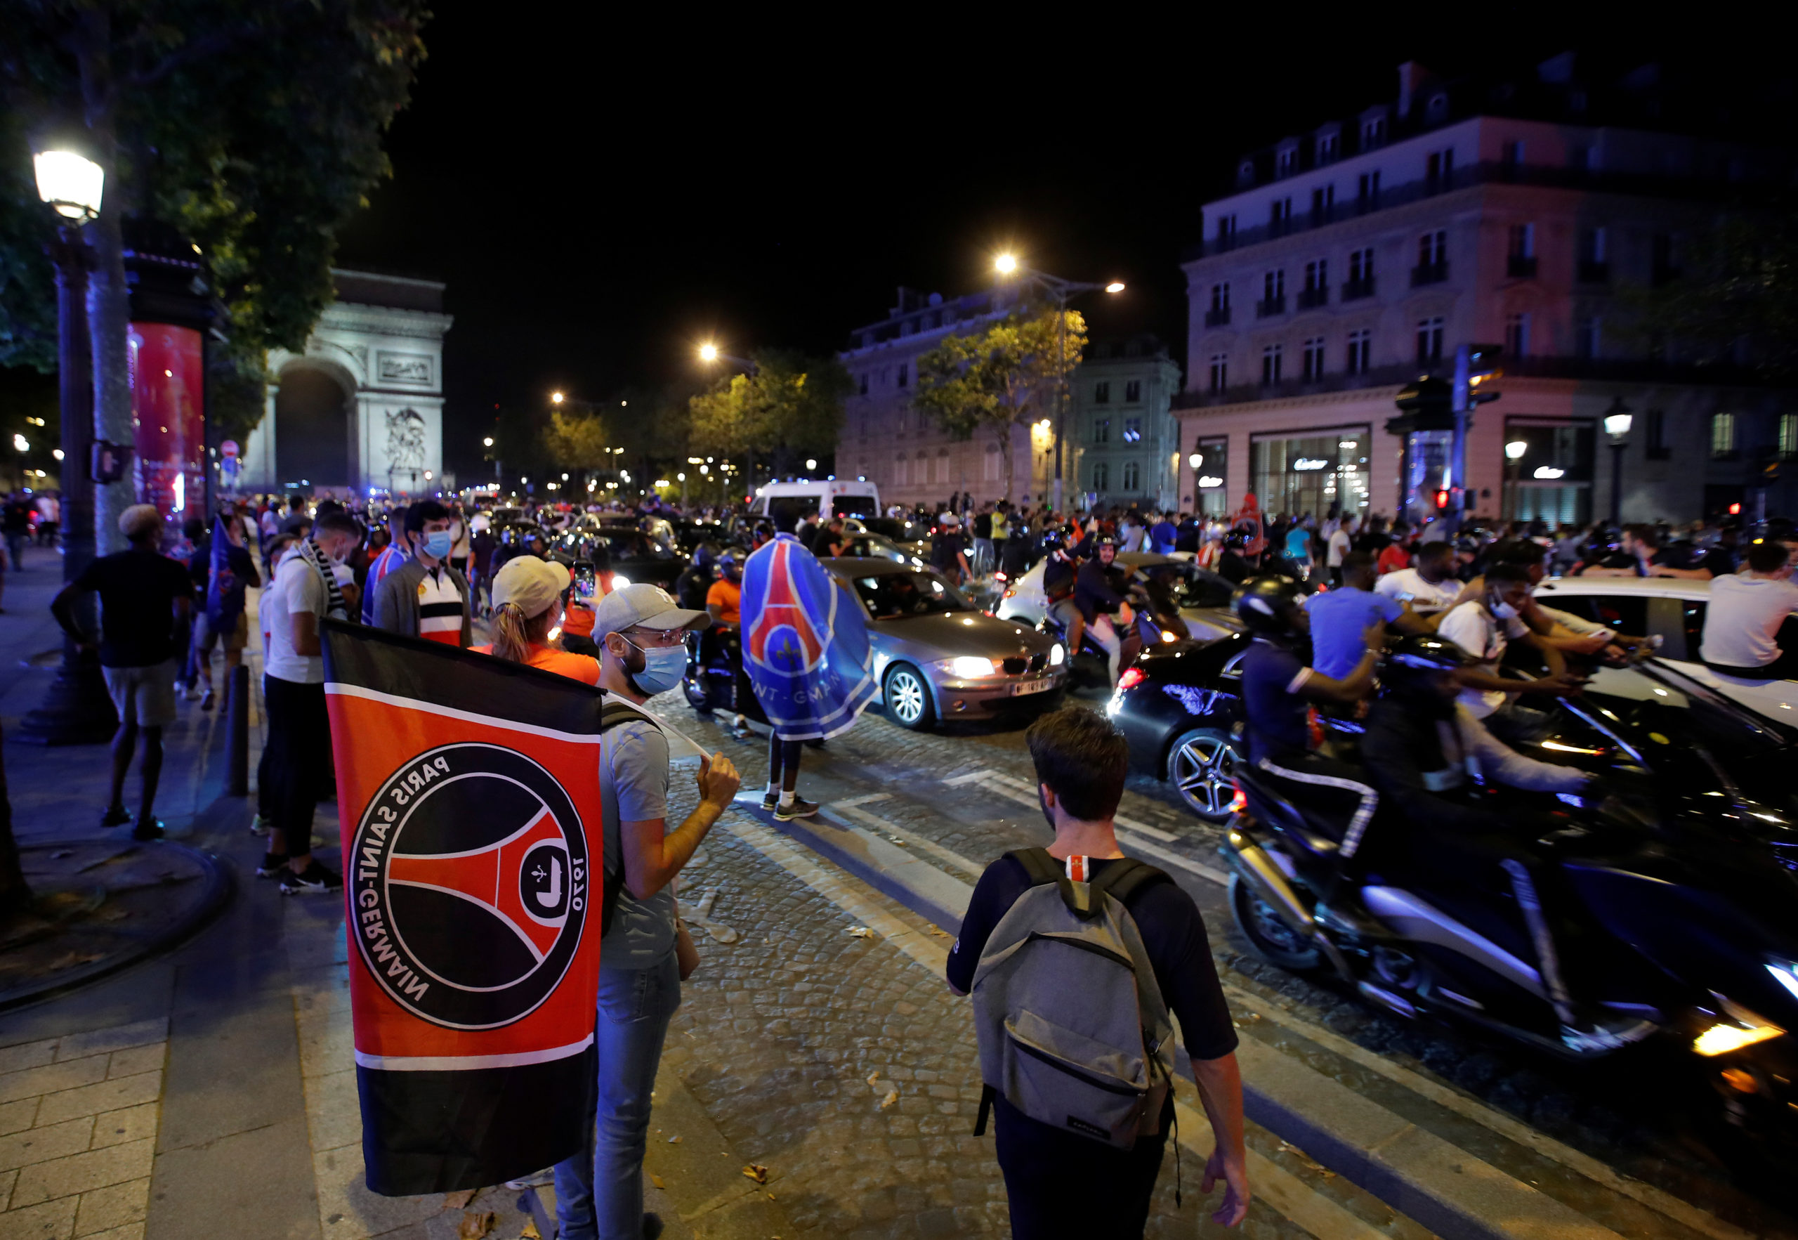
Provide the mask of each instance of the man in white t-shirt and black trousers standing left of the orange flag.
[{"label": "man in white t-shirt and black trousers standing left of the orange flag", "polygon": [[[313,535],[325,563],[302,547],[280,562],[259,608],[268,630],[263,702],[268,707],[268,750],[273,830],[255,873],[280,882],[282,894],[340,891],[343,876],[313,858],[313,812],[331,770],[331,720],[325,714],[325,660],[318,642],[324,616],[345,619],[334,567],[361,542],[349,513],[318,518]],[[327,583],[325,572],[333,572]]]}]

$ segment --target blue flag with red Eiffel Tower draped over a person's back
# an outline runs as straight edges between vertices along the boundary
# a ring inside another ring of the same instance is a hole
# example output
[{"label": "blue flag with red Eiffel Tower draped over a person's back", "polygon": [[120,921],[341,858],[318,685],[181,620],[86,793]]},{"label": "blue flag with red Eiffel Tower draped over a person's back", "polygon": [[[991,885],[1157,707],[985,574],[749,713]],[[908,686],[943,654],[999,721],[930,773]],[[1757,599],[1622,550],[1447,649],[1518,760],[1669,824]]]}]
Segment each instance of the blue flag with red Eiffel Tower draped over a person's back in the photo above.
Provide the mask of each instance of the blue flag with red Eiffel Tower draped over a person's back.
[{"label": "blue flag with red Eiffel Tower draped over a person's back", "polygon": [[743,567],[743,668],[782,740],[847,732],[874,700],[861,603],[793,535]]}]

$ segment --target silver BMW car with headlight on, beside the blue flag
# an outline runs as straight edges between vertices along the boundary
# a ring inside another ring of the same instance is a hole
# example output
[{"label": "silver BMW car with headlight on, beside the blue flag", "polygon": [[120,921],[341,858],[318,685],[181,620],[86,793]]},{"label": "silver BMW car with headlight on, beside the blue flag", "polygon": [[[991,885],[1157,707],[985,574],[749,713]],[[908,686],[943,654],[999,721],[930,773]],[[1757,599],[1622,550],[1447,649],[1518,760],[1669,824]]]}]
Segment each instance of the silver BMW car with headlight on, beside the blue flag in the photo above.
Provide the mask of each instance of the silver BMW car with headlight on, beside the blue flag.
[{"label": "silver BMW car with headlight on, beside the blue flag", "polygon": [[881,700],[901,727],[1054,700],[1068,677],[1059,641],[987,616],[931,569],[861,556],[820,563],[868,616]]}]

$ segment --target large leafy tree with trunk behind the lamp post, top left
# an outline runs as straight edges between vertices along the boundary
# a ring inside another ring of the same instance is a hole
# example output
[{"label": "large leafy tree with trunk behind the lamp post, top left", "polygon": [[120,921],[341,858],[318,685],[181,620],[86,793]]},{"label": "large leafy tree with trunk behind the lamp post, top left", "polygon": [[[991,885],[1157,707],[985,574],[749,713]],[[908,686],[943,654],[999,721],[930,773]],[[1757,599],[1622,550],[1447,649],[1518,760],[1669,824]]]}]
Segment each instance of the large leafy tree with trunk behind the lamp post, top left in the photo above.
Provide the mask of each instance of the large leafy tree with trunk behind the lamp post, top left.
[{"label": "large leafy tree with trunk behind the lamp post, top left", "polygon": [[[263,416],[266,351],[302,351],[333,299],[334,234],[388,175],[381,139],[424,58],[421,0],[14,0],[0,52],[11,112],[0,133],[0,349],[43,364],[49,214],[22,194],[22,131],[76,131],[106,173],[88,292],[95,434],[131,441],[129,302],[120,225],[142,214],[200,247],[223,299],[214,351],[223,434]],[[20,198],[27,198],[20,202]],[[29,214],[27,214],[29,212]],[[20,306],[14,295],[25,301]],[[54,315],[52,315],[54,317]],[[129,482],[95,488],[102,545]]]}]

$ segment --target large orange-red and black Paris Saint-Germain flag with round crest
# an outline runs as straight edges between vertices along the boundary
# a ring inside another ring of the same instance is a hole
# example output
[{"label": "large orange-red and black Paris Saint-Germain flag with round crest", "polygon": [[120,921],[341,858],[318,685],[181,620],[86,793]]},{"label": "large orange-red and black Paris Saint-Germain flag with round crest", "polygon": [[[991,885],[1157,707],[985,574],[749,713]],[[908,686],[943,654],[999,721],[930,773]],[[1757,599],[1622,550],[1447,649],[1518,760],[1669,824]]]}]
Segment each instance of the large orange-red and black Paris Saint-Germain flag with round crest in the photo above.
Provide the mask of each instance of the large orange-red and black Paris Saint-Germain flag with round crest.
[{"label": "large orange-red and black Paris Saint-Germain flag with round crest", "polygon": [[324,623],[369,1188],[484,1188],[593,1123],[604,695]]}]

